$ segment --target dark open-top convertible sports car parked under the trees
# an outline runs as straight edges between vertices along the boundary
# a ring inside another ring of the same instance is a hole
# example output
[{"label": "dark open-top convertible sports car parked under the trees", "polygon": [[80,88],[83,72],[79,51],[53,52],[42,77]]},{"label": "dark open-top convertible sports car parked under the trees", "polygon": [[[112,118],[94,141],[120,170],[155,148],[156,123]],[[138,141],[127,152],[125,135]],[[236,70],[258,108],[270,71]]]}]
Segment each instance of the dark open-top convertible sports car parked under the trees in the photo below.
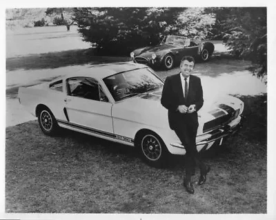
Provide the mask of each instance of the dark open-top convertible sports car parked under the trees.
[{"label": "dark open-top convertible sports car parked under the trees", "polygon": [[211,42],[202,42],[198,37],[168,35],[157,46],[139,48],[130,53],[135,63],[148,66],[164,66],[170,70],[176,63],[180,63],[186,55],[208,61],[214,52],[215,46]]}]

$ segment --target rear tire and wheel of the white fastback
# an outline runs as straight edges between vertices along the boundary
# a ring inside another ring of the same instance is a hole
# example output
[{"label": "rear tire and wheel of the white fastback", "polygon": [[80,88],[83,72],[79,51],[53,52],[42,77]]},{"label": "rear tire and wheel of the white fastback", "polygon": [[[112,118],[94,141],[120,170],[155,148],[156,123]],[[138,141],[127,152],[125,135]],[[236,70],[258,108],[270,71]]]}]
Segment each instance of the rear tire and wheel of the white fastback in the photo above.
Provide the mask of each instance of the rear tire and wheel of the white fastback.
[{"label": "rear tire and wheel of the white fastback", "polygon": [[54,136],[59,130],[57,120],[48,108],[42,108],[38,114],[39,126],[44,134]]}]

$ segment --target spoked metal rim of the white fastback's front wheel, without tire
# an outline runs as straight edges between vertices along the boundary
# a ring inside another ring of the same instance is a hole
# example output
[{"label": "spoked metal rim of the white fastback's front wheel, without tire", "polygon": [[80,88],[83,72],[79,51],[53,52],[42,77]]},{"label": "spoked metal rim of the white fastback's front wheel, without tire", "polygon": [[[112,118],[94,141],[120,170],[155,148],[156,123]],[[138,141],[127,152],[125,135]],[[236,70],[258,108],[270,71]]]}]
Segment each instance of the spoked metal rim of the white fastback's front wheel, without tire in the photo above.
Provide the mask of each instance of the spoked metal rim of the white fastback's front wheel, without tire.
[{"label": "spoked metal rim of the white fastback's front wheel, without tire", "polygon": [[143,139],[141,139],[141,150],[150,161],[157,161],[162,154],[161,143],[152,134],[146,134]]}]

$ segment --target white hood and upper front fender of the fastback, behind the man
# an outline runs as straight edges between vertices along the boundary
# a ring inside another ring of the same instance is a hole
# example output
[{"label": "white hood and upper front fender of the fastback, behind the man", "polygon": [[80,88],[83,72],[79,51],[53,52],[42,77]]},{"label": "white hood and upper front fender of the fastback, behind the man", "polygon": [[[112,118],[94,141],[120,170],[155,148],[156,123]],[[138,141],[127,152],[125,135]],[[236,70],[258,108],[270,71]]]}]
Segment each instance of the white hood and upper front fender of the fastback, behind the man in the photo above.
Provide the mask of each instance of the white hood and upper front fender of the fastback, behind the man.
[{"label": "white hood and upper front fender of the fastback, behind the man", "polygon": [[[149,126],[158,128],[169,128],[168,110],[161,106],[161,92],[162,90],[159,89],[115,103],[112,116],[128,121],[136,121],[137,123],[145,123]],[[204,123],[227,114],[226,110],[228,108],[233,110],[241,108],[241,103],[241,100],[229,95],[220,97],[215,101],[211,99],[205,100],[203,108],[198,112],[198,134],[203,133]],[[224,106],[226,110],[221,109],[221,105]]]}]

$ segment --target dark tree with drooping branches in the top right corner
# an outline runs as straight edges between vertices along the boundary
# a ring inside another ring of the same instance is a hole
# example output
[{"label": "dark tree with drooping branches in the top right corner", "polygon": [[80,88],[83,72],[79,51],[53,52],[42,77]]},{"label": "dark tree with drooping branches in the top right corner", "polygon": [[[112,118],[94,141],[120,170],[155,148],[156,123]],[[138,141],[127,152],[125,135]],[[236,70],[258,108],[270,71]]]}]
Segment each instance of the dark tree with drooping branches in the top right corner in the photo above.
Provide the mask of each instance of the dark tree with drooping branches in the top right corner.
[{"label": "dark tree with drooping branches in the top right corner", "polygon": [[213,32],[237,58],[257,63],[257,76],[267,72],[266,8],[206,8],[216,14]]}]

